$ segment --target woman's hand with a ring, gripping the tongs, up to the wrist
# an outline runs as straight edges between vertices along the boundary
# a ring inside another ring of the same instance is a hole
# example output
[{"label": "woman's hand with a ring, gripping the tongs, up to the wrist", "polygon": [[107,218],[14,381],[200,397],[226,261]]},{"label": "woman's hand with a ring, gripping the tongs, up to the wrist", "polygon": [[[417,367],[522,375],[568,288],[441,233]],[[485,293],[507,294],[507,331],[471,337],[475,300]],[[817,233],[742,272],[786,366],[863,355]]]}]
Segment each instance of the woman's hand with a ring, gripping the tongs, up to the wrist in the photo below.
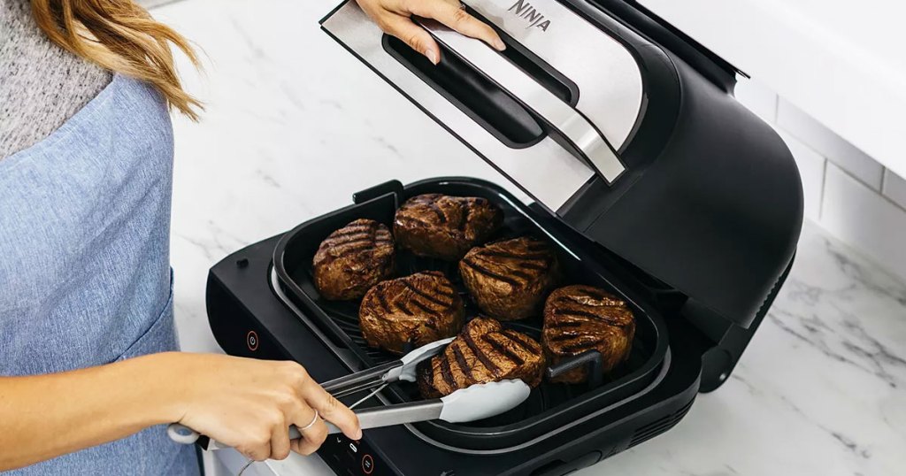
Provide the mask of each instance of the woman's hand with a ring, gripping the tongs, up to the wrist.
[{"label": "woman's hand with a ring, gripping the tongs, up to the wrist", "polygon": [[[302,365],[227,355],[170,353],[166,367],[178,381],[175,421],[233,446],[255,461],[283,460],[290,450],[311,454],[327,438],[327,420],[353,440],[359,420],[315,383]],[[303,440],[289,440],[289,425]]]}]

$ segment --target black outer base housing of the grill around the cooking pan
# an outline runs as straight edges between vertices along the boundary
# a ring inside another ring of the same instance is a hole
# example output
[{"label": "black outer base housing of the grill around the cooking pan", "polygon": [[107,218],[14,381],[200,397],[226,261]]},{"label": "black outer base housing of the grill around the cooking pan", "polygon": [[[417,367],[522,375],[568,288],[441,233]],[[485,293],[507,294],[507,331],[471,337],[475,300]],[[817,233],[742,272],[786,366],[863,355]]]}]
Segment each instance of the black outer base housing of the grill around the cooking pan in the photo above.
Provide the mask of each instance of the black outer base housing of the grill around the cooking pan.
[{"label": "black outer base housing of the grill around the cooking pan", "polygon": [[[226,257],[207,280],[207,315],[217,343],[227,354],[290,359],[304,364],[319,382],[349,374],[355,358],[337,352],[331,339],[308,316],[297,316],[281,300],[267,277],[280,237],[255,243]],[[652,424],[670,418],[695,398],[699,389],[701,354],[708,340],[681,316],[667,316],[671,358],[655,388],[618,408],[583,415],[572,427],[534,444],[509,452],[462,452],[426,441],[405,426],[368,430],[361,442],[332,436],[318,454],[338,475],[362,474],[364,456],[371,456],[372,475],[497,476],[563,475],[625,450],[633,435],[653,437],[666,431]],[[250,332],[257,335],[252,350]],[[343,358],[349,357],[344,363]],[[351,399],[352,400],[352,399]],[[346,403],[351,403],[347,401]],[[636,442],[641,442],[641,437]],[[355,451],[352,451],[352,444]]]}]

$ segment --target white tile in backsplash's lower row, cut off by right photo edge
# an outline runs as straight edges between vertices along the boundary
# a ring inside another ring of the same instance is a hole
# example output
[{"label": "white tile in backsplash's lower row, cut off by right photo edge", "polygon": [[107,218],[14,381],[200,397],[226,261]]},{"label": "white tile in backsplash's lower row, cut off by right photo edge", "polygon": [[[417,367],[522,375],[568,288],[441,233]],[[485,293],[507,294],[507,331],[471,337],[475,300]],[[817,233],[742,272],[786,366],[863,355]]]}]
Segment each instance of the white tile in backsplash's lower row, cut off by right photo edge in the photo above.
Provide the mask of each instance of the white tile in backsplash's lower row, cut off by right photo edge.
[{"label": "white tile in backsplash's lower row, cut off by right photo edge", "polygon": [[828,162],[821,225],[906,279],[906,209]]}]

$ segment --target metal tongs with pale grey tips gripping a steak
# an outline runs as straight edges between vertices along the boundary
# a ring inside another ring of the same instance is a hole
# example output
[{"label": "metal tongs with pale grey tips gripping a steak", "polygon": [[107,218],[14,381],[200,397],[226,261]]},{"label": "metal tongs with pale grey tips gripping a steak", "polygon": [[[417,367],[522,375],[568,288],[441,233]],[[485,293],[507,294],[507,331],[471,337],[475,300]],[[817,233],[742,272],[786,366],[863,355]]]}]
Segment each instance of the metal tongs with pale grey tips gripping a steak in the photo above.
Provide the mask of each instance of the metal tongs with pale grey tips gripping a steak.
[{"label": "metal tongs with pale grey tips gripping a steak", "polygon": [[[432,342],[403,355],[399,360],[377,367],[342,376],[322,384],[324,390],[336,398],[342,398],[374,389],[368,396],[350,405],[354,408],[368,400],[384,387],[400,380],[415,382],[416,367],[419,363],[443,352],[452,337]],[[530,389],[521,380],[503,380],[488,384],[474,384],[459,389],[447,396],[411,403],[398,403],[367,408],[356,412],[362,430],[403,423],[443,420],[449,423],[473,422],[504,413],[523,403]],[[330,433],[341,432],[332,423],[327,423]],[[180,423],[170,423],[167,432],[175,442],[191,444],[198,442],[205,450],[218,450],[226,445],[201,436],[198,432]],[[295,425],[289,427],[291,440],[301,438]]]}]

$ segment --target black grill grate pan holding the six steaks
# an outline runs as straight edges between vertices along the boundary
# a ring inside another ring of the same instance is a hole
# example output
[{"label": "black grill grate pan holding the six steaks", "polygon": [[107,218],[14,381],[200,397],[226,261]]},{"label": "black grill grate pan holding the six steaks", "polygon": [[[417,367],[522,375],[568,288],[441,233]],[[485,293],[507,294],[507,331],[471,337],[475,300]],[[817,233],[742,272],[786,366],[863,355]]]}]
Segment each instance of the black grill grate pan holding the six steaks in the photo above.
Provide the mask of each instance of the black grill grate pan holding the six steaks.
[{"label": "black grill grate pan holding the six steaks", "polygon": [[[489,241],[523,236],[535,236],[550,242],[561,265],[564,280],[562,285],[588,284],[610,287],[602,270],[591,260],[577,257],[575,250],[565,248],[562,237],[555,230],[546,230],[532,217],[532,211],[516,204],[512,198],[487,185],[476,185],[467,181],[434,181],[412,186],[412,194],[441,192],[458,196],[481,196],[494,201],[504,210],[504,225],[496,236]],[[333,230],[349,223],[352,219],[376,219],[382,223],[392,221],[395,207],[400,199],[390,193],[374,195],[374,198],[360,201],[347,209],[337,210],[332,214],[295,228],[278,246],[275,256],[279,261],[275,267],[283,268],[283,273],[290,282],[287,283],[291,299],[296,300],[311,313],[316,325],[324,331],[325,337],[333,340],[335,345],[346,347],[351,354],[361,360],[364,367],[386,364],[399,358],[379,349],[369,347],[359,328],[359,302],[339,302],[322,299],[313,284],[312,257],[321,240]],[[551,239],[548,233],[555,238]],[[559,238],[557,238],[559,237]],[[466,303],[466,316],[477,316],[477,306],[467,295],[458,273],[458,264],[447,261],[416,257],[405,250],[398,250],[396,257],[397,276],[409,276],[419,271],[439,271],[443,273]],[[611,289],[614,291],[614,289]],[[619,294],[619,292],[618,292]],[[653,371],[660,364],[660,358],[666,352],[666,343],[660,339],[664,329],[662,324],[651,316],[648,309],[633,305],[639,313],[639,325],[636,327],[636,338],[632,343],[629,358],[607,375],[602,382],[592,384],[554,384],[547,380],[532,390],[525,403],[515,409],[480,422],[443,423],[428,422],[419,426],[419,430],[439,442],[458,447],[476,449],[496,448],[506,444],[543,436],[559,424],[564,418],[573,418],[576,414],[591,408],[600,408],[607,403],[615,403],[633,392],[638,392],[643,385],[654,377]],[[519,321],[503,323],[506,327],[540,339],[542,318],[532,316]],[[601,387],[595,388],[594,384]],[[391,384],[383,393],[394,403],[418,401],[421,399],[418,386],[401,382]]]}]

